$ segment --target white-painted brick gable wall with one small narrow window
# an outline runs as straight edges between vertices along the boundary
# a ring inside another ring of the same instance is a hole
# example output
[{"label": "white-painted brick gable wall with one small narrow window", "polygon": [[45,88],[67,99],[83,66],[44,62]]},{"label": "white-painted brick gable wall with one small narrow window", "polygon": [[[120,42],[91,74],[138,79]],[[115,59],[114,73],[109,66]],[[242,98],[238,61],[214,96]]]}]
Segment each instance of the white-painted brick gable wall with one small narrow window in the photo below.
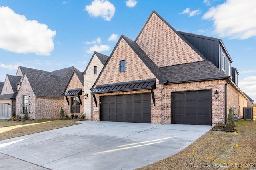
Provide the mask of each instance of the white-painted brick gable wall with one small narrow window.
[{"label": "white-painted brick gable wall with one small narrow window", "polygon": [[[97,66],[97,74],[94,74],[94,66]],[[94,82],[98,78],[98,75],[100,74],[103,64],[101,63],[100,59],[95,54],[92,56],[92,61],[88,65],[88,68],[84,74],[84,93],[88,94],[88,98],[84,101],[84,112],[86,115],[86,119],[92,119],[92,102],[93,97],[90,92],[90,88],[92,88]]]}]

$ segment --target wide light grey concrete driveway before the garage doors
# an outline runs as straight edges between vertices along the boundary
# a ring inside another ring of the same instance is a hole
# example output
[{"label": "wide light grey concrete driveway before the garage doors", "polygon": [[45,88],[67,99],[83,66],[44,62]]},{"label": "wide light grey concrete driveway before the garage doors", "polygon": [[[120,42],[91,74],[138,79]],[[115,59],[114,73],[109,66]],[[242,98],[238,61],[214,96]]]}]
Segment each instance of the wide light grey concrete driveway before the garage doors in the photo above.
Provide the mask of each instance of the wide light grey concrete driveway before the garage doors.
[{"label": "wide light grey concrete driveway before the garage doors", "polygon": [[0,141],[1,170],[126,170],[184,149],[211,126],[93,122]]}]

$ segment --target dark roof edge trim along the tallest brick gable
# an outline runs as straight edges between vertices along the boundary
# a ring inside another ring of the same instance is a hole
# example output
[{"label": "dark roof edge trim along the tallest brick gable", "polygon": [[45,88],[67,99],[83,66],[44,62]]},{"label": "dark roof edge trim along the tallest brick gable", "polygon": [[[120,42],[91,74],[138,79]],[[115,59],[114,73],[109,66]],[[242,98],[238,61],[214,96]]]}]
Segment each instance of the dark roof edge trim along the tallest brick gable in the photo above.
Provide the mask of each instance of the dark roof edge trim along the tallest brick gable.
[{"label": "dark roof edge trim along the tallest brick gable", "polygon": [[148,21],[150,20],[150,18],[152,17],[153,14],[156,14],[156,16],[158,16],[158,18],[160,18],[166,25],[168,25],[168,27],[170,27],[170,29],[172,29],[172,31],[174,31],[176,33],[176,35],[178,35],[185,43],[187,43],[189,45],[189,47],[191,47],[200,57],[202,57],[202,59],[204,61],[207,61],[206,57],[204,57],[204,55],[202,53],[200,53],[200,51],[198,51],[190,42],[188,42],[187,39],[185,39],[176,29],[174,29],[174,27],[172,27],[172,25],[170,25],[166,20],[164,20],[164,18],[162,18],[162,16],[160,16],[155,10],[153,10],[151,12],[150,16],[148,17],[148,20],[146,21],[146,23],[140,30],[140,33],[136,37],[135,42],[137,42],[138,38],[140,37],[141,33],[143,32],[144,28],[148,24]]}]

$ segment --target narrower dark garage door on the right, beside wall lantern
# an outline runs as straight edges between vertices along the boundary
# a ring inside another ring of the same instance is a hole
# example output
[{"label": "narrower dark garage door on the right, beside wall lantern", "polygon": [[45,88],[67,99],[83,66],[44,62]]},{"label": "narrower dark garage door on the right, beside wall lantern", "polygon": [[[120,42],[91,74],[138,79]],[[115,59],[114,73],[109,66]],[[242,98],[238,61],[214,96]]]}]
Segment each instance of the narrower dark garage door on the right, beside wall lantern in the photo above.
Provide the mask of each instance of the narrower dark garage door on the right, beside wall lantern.
[{"label": "narrower dark garage door on the right, beside wall lantern", "polygon": [[211,90],[172,93],[172,123],[211,125]]}]

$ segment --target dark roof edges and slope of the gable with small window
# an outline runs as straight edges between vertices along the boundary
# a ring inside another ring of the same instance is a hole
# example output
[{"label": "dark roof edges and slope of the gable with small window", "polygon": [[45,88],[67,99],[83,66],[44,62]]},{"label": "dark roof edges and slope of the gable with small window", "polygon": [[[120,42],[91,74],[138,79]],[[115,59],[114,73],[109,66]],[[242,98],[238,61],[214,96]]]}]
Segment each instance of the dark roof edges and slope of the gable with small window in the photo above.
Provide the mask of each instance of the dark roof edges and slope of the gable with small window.
[{"label": "dark roof edges and slope of the gable with small window", "polygon": [[114,47],[112,53],[110,54],[108,60],[106,61],[106,64],[104,65],[104,67],[102,68],[98,78],[96,79],[96,81],[94,82],[92,88],[90,90],[92,90],[94,88],[94,86],[97,84],[100,76],[102,75],[102,72],[105,70],[106,65],[108,64],[108,62],[110,61],[114,51],[116,50],[116,48],[118,47],[118,44],[120,43],[121,39],[124,39],[124,41],[126,41],[126,43],[132,48],[132,50],[138,55],[138,57],[140,57],[140,59],[146,64],[146,66],[150,69],[150,71],[156,76],[156,78],[158,78],[158,80],[160,81],[160,83],[164,83],[164,79],[161,75],[161,72],[159,70],[159,68],[156,66],[156,64],[146,55],[146,53],[140,48],[140,46],[138,46],[138,44],[135,41],[132,41],[131,39],[129,39],[128,37],[121,35],[118,42],[116,43],[116,46]]}]

